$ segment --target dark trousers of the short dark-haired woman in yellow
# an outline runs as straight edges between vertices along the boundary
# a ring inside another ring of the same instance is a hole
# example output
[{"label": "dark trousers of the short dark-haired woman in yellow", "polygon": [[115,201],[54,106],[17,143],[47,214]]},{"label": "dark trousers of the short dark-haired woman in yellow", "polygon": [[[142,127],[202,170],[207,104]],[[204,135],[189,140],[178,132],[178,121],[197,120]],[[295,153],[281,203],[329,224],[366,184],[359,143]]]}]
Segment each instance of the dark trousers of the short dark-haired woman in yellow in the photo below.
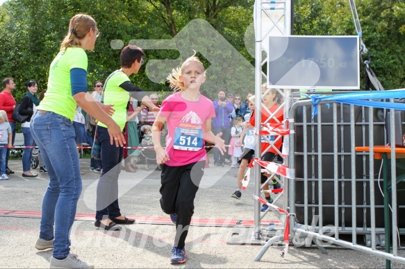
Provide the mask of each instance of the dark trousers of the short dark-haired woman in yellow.
[{"label": "dark trousers of the short dark-haired woman in yellow", "polygon": [[101,143],[101,172],[97,184],[96,219],[117,218],[121,216],[118,205],[118,176],[121,173],[121,162],[124,148],[110,144],[107,128],[97,126]]}]

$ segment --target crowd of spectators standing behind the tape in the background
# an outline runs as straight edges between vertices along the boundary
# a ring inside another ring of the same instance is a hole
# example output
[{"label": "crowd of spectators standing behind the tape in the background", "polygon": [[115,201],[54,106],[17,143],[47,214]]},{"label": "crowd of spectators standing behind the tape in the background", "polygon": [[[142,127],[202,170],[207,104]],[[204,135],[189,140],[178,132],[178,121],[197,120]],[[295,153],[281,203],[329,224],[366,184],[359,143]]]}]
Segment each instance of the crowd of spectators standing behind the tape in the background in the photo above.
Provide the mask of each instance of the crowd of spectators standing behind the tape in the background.
[{"label": "crowd of spectators standing behind the tape in the background", "polygon": [[[92,97],[97,101],[101,101],[104,85],[101,80],[97,80],[93,83]],[[17,122],[12,118],[13,111],[17,102],[13,97],[13,90],[16,85],[13,78],[3,79],[3,91],[0,93],[0,110],[4,110],[7,114],[7,121],[11,130],[11,146],[14,145],[15,131]],[[35,80],[30,80],[25,83],[26,96],[19,101],[19,114],[26,115],[27,117],[21,123],[22,132],[24,134],[24,146],[35,146],[31,131],[29,130],[29,123],[31,116],[35,113],[35,107],[39,105],[40,98],[37,97],[38,84]],[[46,93],[46,89],[41,91],[42,98]],[[217,92],[217,99],[213,100],[215,109],[215,118],[212,121],[212,130],[214,134],[222,133],[222,139],[225,144],[229,145],[229,150],[224,155],[220,154],[217,148],[213,148],[214,166],[232,166],[238,168],[240,166],[240,156],[242,155],[242,146],[238,145],[238,140],[245,136],[243,130],[246,128],[251,114],[251,107],[249,106],[249,98],[253,94],[249,92],[245,98],[242,98],[240,94],[226,94],[225,89],[220,89]],[[280,98],[279,96],[277,96]],[[156,107],[160,107],[158,93],[149,94],[149,98]],[[276,98],[275,98],[276,101]],[[124,170],[129,173],[135,173],[138,169],[137,162],[144,163],[147,159],[149,164],[154,163],[154,157],[142,158],[142,145],[151,144],[151,136],[142,143],[145,135],[144,130],[149,130],[156,119],[156,113],[149,110],[149,107],[145,106],[138,100],[131,98],[126,106],[127,117],[124,128],[124,136],[126,137],[126,148],[124,149]],[[76,115],[73,120],[74,130],[76,132],[76,146],[78,147],[78,154],[83,153],[82,148],[94,145],[94,137],[97,135],[96,126],[97,119],[94,119],[89,114],[86,114],[81,107],[76,107]],[[144,126],[145,125],[145,126]],[[143,126],[143,127],[142,127]],[[148,127],[149,126],[149,127]],[[162,131],[164,135],[164,130]],[[95,139],[96,144],[97,139]],[[8,167],[8,156],[10,155],[10,148],[7,147],[7,153],[5,156],[5,171],[1,171],[1,175],[10,175],[15,173],[12,168]],[[24,148],[23,153],[23,176],[24,177],[36,177],[38,174],[32,173],[30,164],[33,148]],[[141,155],[141,157],[140,157]],[[90,158],[90,171],[94,173],[101,172],[102,164],[101,157],[97,155],[97,150],[94,152],[92,149],[92,156]],[[206,167],[209,167],[209,160]],[[1,166],[0,166],[1,169]],[[47,173],[47,168],[40,162],[40,172]],[[84,172],[81,171],[83,174]]]}]

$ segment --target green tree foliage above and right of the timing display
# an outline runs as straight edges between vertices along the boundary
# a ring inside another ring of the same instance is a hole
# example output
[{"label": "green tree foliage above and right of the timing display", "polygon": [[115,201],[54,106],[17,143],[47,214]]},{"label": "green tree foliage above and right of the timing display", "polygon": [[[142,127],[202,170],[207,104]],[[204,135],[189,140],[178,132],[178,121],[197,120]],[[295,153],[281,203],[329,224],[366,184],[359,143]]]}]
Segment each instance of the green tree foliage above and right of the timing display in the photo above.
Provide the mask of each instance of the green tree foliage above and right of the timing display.
[{"label": "green tree foliage above and right of the timing display", "polygon": [[[369,51],[363,60],[370,56],[370,67],[385,89],[403,88],[405,1],[360,0],[356,6]],[[295,35],[356,35],[346,0],[295,0],[294,19]]]}]

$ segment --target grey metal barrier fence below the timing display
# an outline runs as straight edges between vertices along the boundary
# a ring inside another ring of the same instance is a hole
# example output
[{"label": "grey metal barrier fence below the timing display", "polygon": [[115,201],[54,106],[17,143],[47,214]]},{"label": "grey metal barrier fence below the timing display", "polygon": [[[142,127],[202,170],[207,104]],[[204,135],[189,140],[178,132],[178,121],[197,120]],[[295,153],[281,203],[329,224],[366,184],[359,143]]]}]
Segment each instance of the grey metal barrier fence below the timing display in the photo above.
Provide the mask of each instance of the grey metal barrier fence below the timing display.
[{"label": "grey metal barrier fence below the timing display", "polygon": [[[326,252],[324,247],[335,244],[373,254],[387,259],[387,267],[388,260],[405,263],[405,258],[398,256],[399,234],[404,234],[398,224],[404,227],[405,221],[405,214],[398,212],[404,210],[405,200],[397,196],[401,191],[397,184],[402,184],[405,177],[388,181],[387,170],[390,161],[390,178],[397,178],[397,169],[401,168],[397,157],[404,156],[397,156],[395,147],[383,153],[381,159],[374,156],[376,145],[394,141],[394,111],[390,110],[391,116],[386,118],[383,109],[331,102],[328,109],[324,103],[318,105],[318,114],[313,118],[311,100],[297,101],[290,108],[289,128],[294,132],[289,136],[288,163],[295,177],[286,179],[288,190],[284,190],[290,207],[290,240],[299,246],[313,241],[322,252]],[[386,121],[392,126],[388,138]],[[369,147],[369,151],[356,151],[356,147]],[[383,183],[386,188],[381,186]],[[385,200],[384,194],[390,199]],[[394,232],[390,234],[390,230]],[[352,236],[351,242],[347,235]],[[358,243],[361,235],[364,242]],[[255,260],[260,260],[267,248],[281,238],[275,236],[267,241]]]}]

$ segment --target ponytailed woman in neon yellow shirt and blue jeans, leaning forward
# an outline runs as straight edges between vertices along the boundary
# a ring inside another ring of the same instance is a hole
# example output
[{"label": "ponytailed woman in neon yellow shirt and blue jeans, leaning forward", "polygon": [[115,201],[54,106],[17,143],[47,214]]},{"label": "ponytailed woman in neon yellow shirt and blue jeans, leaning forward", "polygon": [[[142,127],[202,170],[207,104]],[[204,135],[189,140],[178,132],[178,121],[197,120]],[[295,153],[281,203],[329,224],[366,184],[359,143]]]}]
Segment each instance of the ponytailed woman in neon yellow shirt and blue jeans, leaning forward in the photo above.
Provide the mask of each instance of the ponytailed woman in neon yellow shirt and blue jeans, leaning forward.
[{"label": "ponytailed woman in neon yellow shirt and blue jeans, leaning forward", "polygon": [[94,268],[70,254],[69,248],[69,232],[82,189],[72,123],[76,105],[108,126],[110,144],[125,143],[121,128],[110,117],[113,105],[101,104],[87,92],[85,51],[94,49],[98,35],[97,23],[89,15],[78,14],[70,19],[69,31],[49,69],[47,93],[31,120],[31,132],[49,174],[35,248],[53,248],[51,268]]}]

